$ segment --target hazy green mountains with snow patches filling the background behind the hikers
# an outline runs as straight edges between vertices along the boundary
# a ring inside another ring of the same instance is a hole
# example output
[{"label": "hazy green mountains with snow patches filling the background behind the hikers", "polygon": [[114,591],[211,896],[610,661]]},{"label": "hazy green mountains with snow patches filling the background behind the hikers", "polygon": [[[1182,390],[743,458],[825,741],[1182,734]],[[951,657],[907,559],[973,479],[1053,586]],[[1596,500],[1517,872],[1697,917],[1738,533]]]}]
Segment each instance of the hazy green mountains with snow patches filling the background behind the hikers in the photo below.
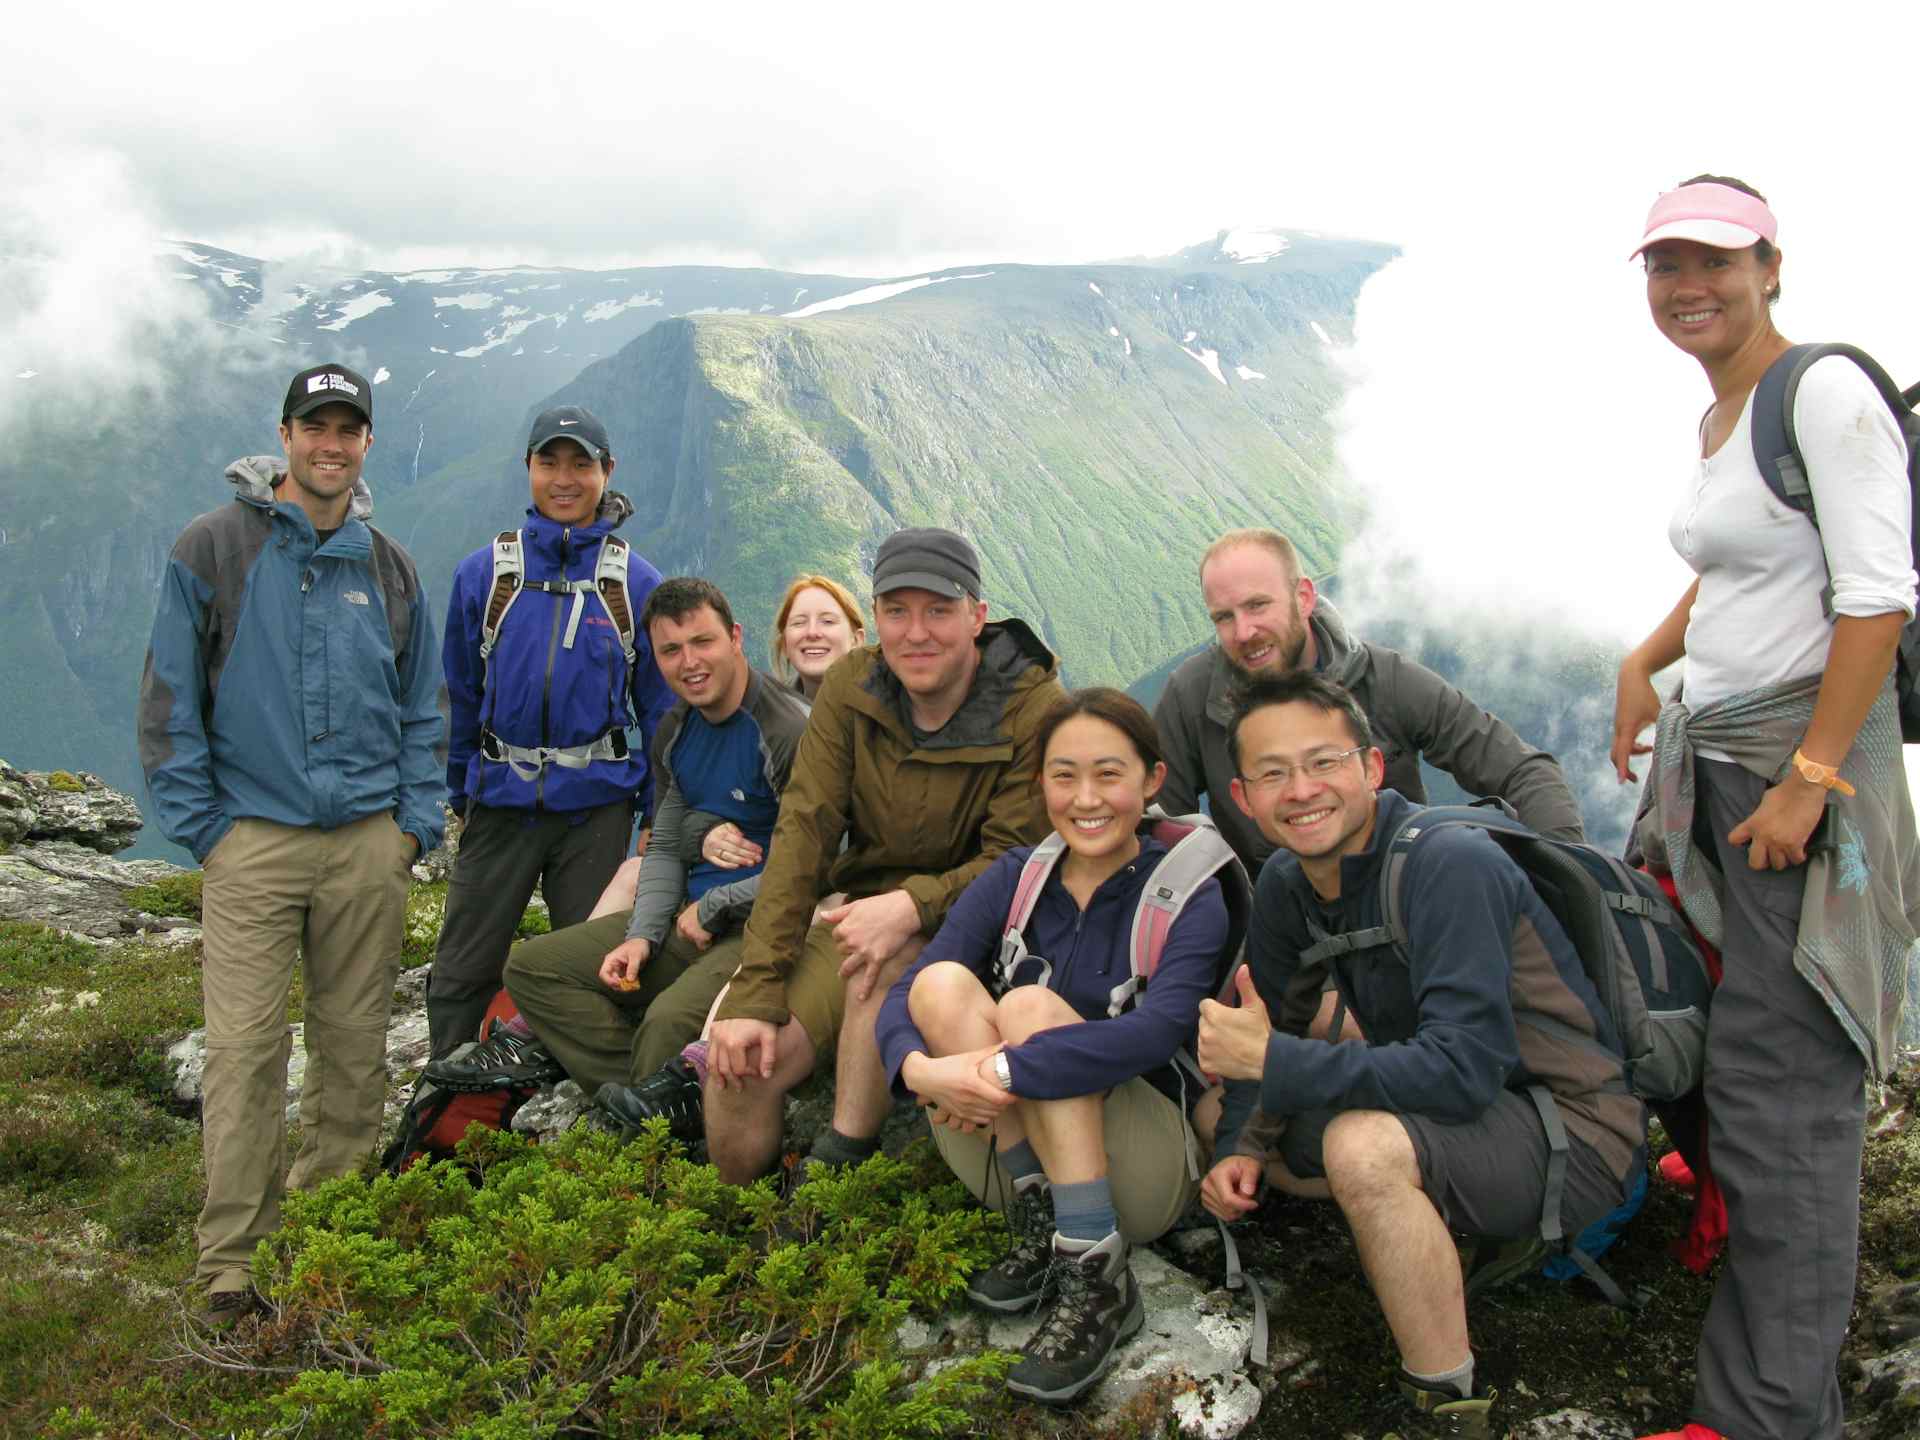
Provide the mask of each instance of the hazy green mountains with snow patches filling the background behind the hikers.
[{"label": "hazy green mountains with snow patches filling the background behind the hikers", "polygon": [[[167,551],[230,499],[228,461],[276,451],[288,374],[324,359],[376,386],[374,524],[442,607],[455,563],[520,520],[532,415],[576,403],[612,436],[622,534],[716,580],[755,655],[791,574],[860,582],[887,532],[945,524],[1069,682],[1156,689],[1208,639],[1212,536],[1269,524],[1336,568],[1361,511],[1334,351],[1396,253],[1221,230],[1164,257],[877,278],[317,273],[169,244],[132,378],[104,394],[61,355],[0,376],[0,755],[142,791],[132,701]],[[165,849],[150,829],[136,852]]]}]

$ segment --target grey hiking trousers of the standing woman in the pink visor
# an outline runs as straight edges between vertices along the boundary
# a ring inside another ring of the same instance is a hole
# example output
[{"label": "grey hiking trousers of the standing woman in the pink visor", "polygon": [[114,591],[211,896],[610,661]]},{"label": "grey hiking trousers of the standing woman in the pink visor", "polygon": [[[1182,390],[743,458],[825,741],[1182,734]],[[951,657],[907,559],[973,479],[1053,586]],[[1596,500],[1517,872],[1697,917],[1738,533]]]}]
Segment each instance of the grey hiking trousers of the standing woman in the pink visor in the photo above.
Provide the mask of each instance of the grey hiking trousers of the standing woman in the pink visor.
[{"label": "grey hiking trousers of the standing woman in the pink visor", "polygon": [[1726,833],[1766,781],[1699,760],[1697,833],[1726,876],[1724,977],[1707,1023],[1707,1156],[1726,1267],[1699,1338],[1692,1419],[1740,1440],[1839,1440],[1836,1361],[1860,1246],[1866,1066],[1793,968],[1805,870],[1749,870]]}]

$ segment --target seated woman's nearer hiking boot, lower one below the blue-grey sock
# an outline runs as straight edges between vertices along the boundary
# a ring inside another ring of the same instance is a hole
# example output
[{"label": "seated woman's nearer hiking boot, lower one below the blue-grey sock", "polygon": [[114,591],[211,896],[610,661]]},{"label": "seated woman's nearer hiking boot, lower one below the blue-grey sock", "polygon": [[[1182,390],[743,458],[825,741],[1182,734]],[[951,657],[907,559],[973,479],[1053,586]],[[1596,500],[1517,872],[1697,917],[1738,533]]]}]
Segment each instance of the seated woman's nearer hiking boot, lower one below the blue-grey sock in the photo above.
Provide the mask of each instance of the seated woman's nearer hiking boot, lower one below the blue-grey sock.
[{"label": "seated woman's nearer hiking boot, lower one below the blue-grey sock", "polygon": [[1140,1332],[1146,1306],[1127,1265],[1127,1240],[1114,1231],[1092,1250],[1068,1250],[1056,1235],[1052,1308],[1020,1348],[1006,1388],[1044,1405],[1069,1405],[1106,1375],[1119,1346]]}]

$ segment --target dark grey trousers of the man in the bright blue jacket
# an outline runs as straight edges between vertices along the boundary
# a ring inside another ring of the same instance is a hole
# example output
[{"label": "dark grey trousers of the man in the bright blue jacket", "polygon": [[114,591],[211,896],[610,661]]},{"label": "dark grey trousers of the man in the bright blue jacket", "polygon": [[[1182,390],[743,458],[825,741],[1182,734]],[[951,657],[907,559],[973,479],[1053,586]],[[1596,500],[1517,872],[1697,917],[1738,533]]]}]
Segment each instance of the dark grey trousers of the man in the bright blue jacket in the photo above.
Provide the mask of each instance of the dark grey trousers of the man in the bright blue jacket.
[{"label": "dark grey trousers of the man in the bright blue jacket", "polygon": [[586,812],[495,810],[476,804],[461,829],[447,881],[447,914],[426,979],[426,1027],[434,1058],[474,1039],[499,993],[515,925],[534,899],[547,900],[553,929],[593,914],[634,839],[634,804]]}]

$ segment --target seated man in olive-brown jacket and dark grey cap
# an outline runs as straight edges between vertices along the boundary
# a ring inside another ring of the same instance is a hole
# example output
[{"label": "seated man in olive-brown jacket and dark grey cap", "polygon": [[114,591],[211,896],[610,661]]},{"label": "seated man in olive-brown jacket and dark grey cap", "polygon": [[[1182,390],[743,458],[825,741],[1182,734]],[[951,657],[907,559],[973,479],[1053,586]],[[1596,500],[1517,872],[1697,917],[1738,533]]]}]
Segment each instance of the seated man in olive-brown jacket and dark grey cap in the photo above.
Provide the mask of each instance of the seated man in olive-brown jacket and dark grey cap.
[{"label": "seated man in olive-brown jacket and dark grey cap", "polygon": [[[1046,833],[1041,720],[1064,695],[1020,620],[987,624],[979,559],[900,530],[874,563],[879,645],[826,676],[780,801],[745,952],[712,1027],[707,1146],[722,1179],[780,1152],[783,1096],[835,1054],[812,1164],[874,1154],[891,1108],[874,1044],[887,987],[1002,851]],[[820,912],[829,893],[845,902]]]}]

